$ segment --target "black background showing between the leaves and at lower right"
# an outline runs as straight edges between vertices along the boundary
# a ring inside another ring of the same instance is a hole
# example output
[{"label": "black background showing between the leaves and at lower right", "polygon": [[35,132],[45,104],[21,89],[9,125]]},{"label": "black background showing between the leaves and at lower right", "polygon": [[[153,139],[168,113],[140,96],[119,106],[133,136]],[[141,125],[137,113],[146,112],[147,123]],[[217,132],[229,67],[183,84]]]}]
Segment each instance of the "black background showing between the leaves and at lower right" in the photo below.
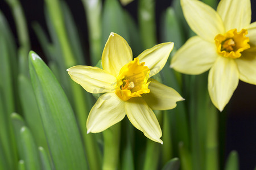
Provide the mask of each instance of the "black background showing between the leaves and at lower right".
[{"label": "black background showing between the leaves and at lower right", "polygon": [[[242,0],[241,0],[242,1]],[[22,0],[20,1],[26,15],[28,30],[31,40],[31,49],[39,56],[44,56],[39,42],[36,39],[35,33],[31,28],[31,23],[37,21],[47,31],[46,22],[44,20],[44,1]],[[86,17],[84,7],[80,0],[66,0],[68,6],[71,8],[73,18],[75,19],[77,28],[80,32],[82,41],[85,42],[85,53],[88,56],[88,30],[86,27]],[[135,0],[129,5],[123,7],[137,18],[137,5]],[[156,24],[159,33],[159,18],[162,12],[171,5],[171,1],[156,0]],[[251,22],[256,21],[256,1],[251,0],[252,19]],[[0,0],[0,10],[5,14],[9,21],[10,27],[16,38],[15,23],[11,14],[9,6],[6,2]],[[255,66],[256,67],[256,66]],[[228,107],[224,112],[220,113],[220,117],[224,117],[222,128],[219,130],[221,141],[225,143],[224,153],[221,153],[222,158],[232,150],[237,150],[240,159],[240,169],[250,170],[256,165],[256,86],[244,82],[239,83],[237,90],[234,92]],[[226,118],[225,118],[226,117]]]}]

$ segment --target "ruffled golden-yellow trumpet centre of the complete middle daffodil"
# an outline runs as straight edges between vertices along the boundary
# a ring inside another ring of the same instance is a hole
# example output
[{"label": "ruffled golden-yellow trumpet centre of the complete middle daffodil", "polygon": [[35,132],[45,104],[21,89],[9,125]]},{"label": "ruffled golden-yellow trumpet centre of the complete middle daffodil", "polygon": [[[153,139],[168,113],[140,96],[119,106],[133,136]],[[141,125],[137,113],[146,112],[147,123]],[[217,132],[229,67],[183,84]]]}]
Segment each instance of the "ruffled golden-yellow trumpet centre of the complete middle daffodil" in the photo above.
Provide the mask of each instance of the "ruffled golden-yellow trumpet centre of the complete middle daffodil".
[{"label": "ruffled golden-yellow trumpet centre of the complete middle daffodil", "polygon": [[119,71],[115,94],[123,101],[150,92],[148,89],[150,82],[147,82],[150,69],[144,64],[145,62],[139,63],[139,59],[134,58]]}]

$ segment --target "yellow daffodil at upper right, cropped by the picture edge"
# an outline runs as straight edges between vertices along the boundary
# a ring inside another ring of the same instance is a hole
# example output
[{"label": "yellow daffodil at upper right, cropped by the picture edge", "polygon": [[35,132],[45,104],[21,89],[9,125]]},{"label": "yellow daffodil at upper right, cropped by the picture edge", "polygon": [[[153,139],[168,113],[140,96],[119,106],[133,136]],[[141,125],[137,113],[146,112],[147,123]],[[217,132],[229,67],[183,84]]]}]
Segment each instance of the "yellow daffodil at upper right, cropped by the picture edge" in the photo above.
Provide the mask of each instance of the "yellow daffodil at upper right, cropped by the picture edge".
[{"label": "yellow daffodil at upper right, cropped by the picture edge", "polygon": [[221,0],[217,11],[197,0],[181,0],[181,6],[197,36],[177,51],[171,67],[185,74],[210,69],[210,99],[222,111],[239,79],[256,84],[256,22],[250,24],[250,0]]}]

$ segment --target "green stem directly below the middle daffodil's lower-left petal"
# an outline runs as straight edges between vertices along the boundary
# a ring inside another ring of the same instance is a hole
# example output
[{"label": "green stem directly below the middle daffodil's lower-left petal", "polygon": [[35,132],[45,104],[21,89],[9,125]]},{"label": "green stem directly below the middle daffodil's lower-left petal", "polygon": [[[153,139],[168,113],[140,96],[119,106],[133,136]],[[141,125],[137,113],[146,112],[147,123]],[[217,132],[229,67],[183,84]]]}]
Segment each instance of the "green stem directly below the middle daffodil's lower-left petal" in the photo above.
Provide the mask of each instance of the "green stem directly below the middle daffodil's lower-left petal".
[{"label": "green stem directly below the middle daffodil's lower-left petal", "polygon": [[116,170],[119,162],[119,145],[121,123],[111,126],[103,131],[104,137],[104,159],[102,170]]}]

